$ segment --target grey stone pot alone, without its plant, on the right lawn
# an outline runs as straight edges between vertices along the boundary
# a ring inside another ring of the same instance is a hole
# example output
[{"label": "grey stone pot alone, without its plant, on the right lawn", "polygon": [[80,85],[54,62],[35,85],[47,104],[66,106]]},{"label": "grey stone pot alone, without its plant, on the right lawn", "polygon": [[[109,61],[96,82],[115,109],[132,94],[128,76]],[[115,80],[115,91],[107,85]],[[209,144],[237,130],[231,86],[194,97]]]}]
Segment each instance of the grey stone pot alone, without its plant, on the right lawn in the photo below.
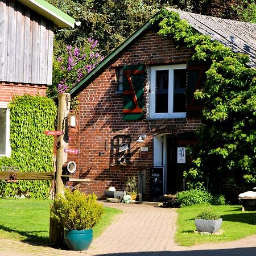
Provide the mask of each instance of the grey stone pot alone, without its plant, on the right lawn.
[{"label": "grey stone pot alone, without its plant, on the right lawn", "polygon": [[218,220],[203,220],[202,218],[195,218],[196,230],[199,232],[214,233],[221,228],[222,218]]}]

